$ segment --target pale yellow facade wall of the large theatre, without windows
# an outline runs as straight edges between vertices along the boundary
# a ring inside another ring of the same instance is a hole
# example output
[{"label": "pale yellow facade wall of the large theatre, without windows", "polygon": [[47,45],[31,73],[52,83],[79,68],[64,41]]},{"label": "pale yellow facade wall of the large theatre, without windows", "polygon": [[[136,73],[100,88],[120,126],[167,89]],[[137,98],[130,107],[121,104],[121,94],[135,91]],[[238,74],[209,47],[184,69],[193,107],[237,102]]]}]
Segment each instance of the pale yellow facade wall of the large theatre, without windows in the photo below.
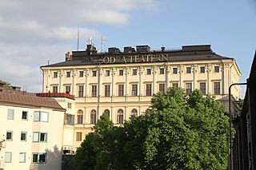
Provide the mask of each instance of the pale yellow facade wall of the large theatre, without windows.
[{"label": "pale yellow facade wall of the large theatre, without windows", "polygon": [[[201,72],[201,67],[205,71]],[[217,70],[215,70],[217,67]],[[190,68],[190,73],[187,73]],[[137,74],[133,75],[134,69]],[[150,69],[150,74],[147,73]],[[164,73],[160,73],[164,69]],[[177,69],[177,73],[174,73]],[[120,70],[123,74],[120,75]],[[82,132],[82,139],[86,133],[91,132],[94,123],[91,123],[91,112],[95,110],[97,119],[108,109],[110,119],[118,124],[118,110],[122,109],[123,119],[128,120],[133,109],[138,115],[150,109],[150,99],[154,93],[158,93],[159,85],[167,87],[178,84],[178,87],[186,89],[191,84],[192,89],[200,89],[200,83],[205,83],[206,94],[214,95],[216,99],[228,96],[228,88],[231,83],[238,82],[241,73],[233,59],[204,60],[204,61],[175,61],[175,62],[146,62],[126,64],[102,64],[102,65],[70,65],[43,67],[43,92],[53,92],[58,87],[59,93],[66,92],[66,86],[70,86],[70,93],[75,98],[74,121],[74,147],[78,147],[82,140],[76,140],[77,132]],[[54,77],[54,73],[58,76]],[[67,77],[70,72],[70,77]],[[82,75],[80,73],[82,72]],[[110,72],[108,75],[107,72]],[[81,76],[81,77],[80,77]],[[219,83],[219,94],[214,94],[214,83]],[[151,85],[151,95],[146,96],[146,85]],[[97,85],[96,97],[92,97],[93,85]],[[98,86],[99,85],[99,86]],[[110,95],[106,97],[105,86],[110,85]],[[118,85],[123,85],[123,97],[118,96]],[[132,85],[138,85],[137,96],[132,95]],[[79,86],[83,87],[82,96],[79,97]],[[232,93],[238,99],[238,88],[232,89]],[[78,110],[82,110],[82,125],[77,123]],[[66,133],[67,134],[67,133]],[[71,134],[71,132],[70,132]],[[79,138],[79,137],[78,137]]]}]

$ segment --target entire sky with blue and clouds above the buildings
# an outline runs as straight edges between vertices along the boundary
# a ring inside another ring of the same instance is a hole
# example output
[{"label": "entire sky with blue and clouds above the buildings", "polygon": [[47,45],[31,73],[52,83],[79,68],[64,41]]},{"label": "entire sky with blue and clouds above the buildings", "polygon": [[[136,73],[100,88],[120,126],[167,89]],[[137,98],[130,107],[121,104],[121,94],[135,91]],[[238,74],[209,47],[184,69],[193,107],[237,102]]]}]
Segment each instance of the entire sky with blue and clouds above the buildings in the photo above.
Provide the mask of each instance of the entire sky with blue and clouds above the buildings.
[{"label": "entire sky with blue and clouds above the buildings", "polygon": [[[234,57],[245,82],[256,49],[254,0],[0,0],[0,79],[42,91],[40,65],[65,60],[93,35],[103,50],[150,45],[181,49],[210,44]],[[243,97],[244,88],[241,89]]]}]

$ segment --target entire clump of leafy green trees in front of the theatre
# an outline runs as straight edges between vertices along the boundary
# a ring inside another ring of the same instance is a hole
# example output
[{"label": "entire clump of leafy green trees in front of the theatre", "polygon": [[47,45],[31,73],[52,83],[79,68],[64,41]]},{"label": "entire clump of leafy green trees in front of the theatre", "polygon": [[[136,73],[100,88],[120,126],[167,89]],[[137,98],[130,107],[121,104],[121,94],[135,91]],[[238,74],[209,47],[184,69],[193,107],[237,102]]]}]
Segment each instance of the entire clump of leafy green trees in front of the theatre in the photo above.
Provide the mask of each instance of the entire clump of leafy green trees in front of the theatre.
[{"label": "entire clump of leafy green trees in front of the theatre", "polygon": [[170,88],[151,111],[114,126],[102,115],[78,148],[74,169],[226,169],[229,118],[214,97]]}]

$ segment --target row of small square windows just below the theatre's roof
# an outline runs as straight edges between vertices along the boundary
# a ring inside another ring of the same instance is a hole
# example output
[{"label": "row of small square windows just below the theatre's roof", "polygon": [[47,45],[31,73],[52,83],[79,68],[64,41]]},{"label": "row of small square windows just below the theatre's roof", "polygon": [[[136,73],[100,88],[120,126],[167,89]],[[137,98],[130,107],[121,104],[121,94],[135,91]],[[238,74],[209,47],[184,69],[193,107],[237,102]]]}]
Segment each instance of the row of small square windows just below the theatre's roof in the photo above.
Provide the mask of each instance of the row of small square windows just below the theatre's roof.
[{"label": "row of small square windows just below the theatre's roof", "polygon": [[[186,73],[191,73],[191,67],[186,67]],[[202,66],[200,67],[200,73],[205,73],[206,72],[206,67]],[[164,68],[159,68],[159,74],[164,74],[165,73],[165,69]],[[172,69],[172,73],[176,74],[178,73],[178,68],[175,67]],[[214,66],[214,73],[219,73],[219,66]],[[138,70],[137,69],[133,69],[132,70],[132,75],[137,75],[138,74]],[[146,69],[146,74],[150,75],[151,74],[151,69]],[[123,76],[123,69],[119,69],[119,76]],[[83,77],[84,76],[84,72],[83,71],[79,71],[79,77]],[[105,76],[108,77],[110,76],[110,69],[107,69],[105,71]],[[54,72],[54,78],[58,77],[58,72]],[[66,72],[66,77],[71,77],[71,73],[70,71]],[[92,77],[97,77],[97,71],[93,70],[92,71]]]}]

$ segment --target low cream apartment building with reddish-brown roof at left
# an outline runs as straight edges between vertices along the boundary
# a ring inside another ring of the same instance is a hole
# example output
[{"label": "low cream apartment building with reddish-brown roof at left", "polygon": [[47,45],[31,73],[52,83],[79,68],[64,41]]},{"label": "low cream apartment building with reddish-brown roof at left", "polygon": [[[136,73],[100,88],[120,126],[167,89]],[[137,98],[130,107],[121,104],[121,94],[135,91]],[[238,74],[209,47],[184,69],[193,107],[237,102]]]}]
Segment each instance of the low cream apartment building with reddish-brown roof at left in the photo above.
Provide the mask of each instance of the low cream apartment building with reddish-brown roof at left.
[{"label": "low cream apartment building with reddish-brown roof at left", "polygon": [[62,169],[65,111],[53,98],[0,89],[0,169]]}]

